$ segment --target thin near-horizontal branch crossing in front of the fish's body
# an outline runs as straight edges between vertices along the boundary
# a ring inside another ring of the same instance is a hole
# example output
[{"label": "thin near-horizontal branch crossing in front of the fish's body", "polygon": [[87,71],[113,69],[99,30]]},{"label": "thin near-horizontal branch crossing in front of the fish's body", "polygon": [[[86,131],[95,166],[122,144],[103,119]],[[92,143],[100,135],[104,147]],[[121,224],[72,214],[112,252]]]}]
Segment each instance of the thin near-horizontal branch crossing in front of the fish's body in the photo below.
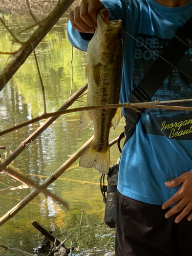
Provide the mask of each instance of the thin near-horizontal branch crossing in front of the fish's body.
[{"label": "thin near-horizontal branch crossing in front of the fish's body", "polygon": [[94,105],[94,106],[83,106],[80,108],[75,108],[75,109],[69,109],[69,110],[63,110],[63,111],[57,111],[57,112],[52,112],[52,113],[44,113],[38,117],[35,117],[31,120],[28,120],[26,122],[20,123],[18,125],[15,125],[7,130],[4,130],[0,132],[0,136],[5,135],[7,133],[16,131],[22,127],[25,127],[29,124],[38,122],[43,119],[47,119],[49,117],[53,116],[60,116],[63,114],[69,114],[73,112],[80,112],[84,110],[95,110],[95,109],[117,109],[117,108],[132,108],[132,109],[147,109],[147,108],[156,108],[156,109],[166,109],[166,110],[180,110],[180,111],[192,111],[192,107],[190,106],[173,106],[173,105],[161,105],[162,103],[177,103],[177,102],[190,102],[192,99],[188,100],[170,100],[170,101],[155,101],[155,102],[142,102],[142,103],[122,103],[122,104],[108,104],[108,105]]}]

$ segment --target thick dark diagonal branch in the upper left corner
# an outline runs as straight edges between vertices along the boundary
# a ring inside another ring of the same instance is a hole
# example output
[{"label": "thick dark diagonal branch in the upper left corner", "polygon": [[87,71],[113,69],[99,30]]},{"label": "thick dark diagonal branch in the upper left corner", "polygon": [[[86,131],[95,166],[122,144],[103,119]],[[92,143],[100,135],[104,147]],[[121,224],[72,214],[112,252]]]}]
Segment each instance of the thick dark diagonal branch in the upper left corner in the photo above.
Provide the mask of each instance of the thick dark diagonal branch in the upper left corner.
[{"label": "thick dark diagonal branch in the upper left corner", "polygon": [[0,91],[6,86],[7,82],[13,77],[17,70],[23,65],[29,55],[32,53],[33,47],[47,35],[59,18],[67,11],[74,0],[60,0],[53,11],[48,15],[46,20],[41,23],[30,38],[20,47],[17,53],[12,57],[8,65],[0,74]]}]

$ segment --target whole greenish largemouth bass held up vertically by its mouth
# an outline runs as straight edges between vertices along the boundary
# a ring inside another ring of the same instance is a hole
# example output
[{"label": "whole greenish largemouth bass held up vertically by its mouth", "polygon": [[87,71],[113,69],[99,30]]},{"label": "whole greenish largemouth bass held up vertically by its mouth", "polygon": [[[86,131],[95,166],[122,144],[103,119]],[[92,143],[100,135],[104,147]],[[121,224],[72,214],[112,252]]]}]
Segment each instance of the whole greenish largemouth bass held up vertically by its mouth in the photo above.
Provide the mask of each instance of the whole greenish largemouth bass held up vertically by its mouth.
[{"label": "whole greenish largemouth bass held up vertically by its mouth", "polygon": [[[118,104],[122,77],[123,29],[122,20],[105,22],[97,13],[97,28],[87,50],[87,106]],[[79,159],[79,166],[96,168],[107,174],[110,167],[109,133],[116,129],[121,118],[118,109],[83,111],[80,125],[84,129],[93,122],[94,138]]]}]

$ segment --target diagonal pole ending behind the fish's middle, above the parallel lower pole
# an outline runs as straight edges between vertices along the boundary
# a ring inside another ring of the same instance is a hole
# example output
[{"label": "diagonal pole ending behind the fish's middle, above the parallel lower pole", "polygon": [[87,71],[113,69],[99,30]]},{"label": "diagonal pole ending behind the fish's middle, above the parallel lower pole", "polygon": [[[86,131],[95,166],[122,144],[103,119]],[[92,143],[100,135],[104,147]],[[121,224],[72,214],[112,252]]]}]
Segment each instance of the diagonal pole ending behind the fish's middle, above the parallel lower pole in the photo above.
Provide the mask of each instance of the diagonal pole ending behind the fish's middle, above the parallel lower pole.
[{"label": "diagonal pole ending behind the fish's middle, above the parallel lower pole", "polygon": [[[78,91],[76,91],[66,102],[57,110],[66,110],[73,104],[75,100],[79,98],[81,94],[83,94],[88,88],[88,83],[85,83]],[[25,148],[27,148],[33,140],[35,140],[42,132],[44,132],[47,127],[49,127],[59,116],[54,116],[49,118],[46,122],[44,122],[41,126],[38,127],[38,129],[32,133],[26,140],[24,140],[17,148],[14,150],[14,152],[3,161],[3,163],[0,163],[0,172],[6,168],[20,153],[22,153]]]}]

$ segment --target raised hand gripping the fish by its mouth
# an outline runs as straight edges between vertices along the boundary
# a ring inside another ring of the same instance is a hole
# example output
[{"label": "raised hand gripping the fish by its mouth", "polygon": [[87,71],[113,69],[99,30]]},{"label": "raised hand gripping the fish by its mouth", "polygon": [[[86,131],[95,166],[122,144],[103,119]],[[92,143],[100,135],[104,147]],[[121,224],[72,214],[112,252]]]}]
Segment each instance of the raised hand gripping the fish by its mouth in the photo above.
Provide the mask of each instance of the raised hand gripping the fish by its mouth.
[{"label": "raised hand gripping the fish by its mouth", "polygon": [[73,28],[82,33],[94,33],[97,28],[97,12],[103,20],[109,19],[109,11],[99,0],[82,0],[80,6],[70,12],[69,19]]}]

